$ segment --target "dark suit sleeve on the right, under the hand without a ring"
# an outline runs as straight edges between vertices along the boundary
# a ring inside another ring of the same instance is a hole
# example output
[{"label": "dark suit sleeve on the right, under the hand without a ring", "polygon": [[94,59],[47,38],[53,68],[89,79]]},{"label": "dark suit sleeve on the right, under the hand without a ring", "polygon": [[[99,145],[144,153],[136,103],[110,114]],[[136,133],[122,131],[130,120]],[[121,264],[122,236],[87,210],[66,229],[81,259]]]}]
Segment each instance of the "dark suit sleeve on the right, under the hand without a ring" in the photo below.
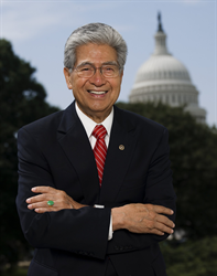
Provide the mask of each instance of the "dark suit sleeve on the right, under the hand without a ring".
[{"label": "dark suit sleeve on the right, under the hand without a ring", "polygon": [[[153,152],[150,161],[148,176],[145,179],[145,192],[143,203],[151,203],[170,208],[174,211],[173,215],[167,216],[175,221],[175,193],[172,184],[172,171],[170,162],[167,129],[163,129],[159,145]],[[129,251],[143,250],[165,240],[169,234],[163,236],[155,234],[135,234],[127,230],[119,230],[113,233],[112,240],[108,245],[108,254],[117,254]]]}]

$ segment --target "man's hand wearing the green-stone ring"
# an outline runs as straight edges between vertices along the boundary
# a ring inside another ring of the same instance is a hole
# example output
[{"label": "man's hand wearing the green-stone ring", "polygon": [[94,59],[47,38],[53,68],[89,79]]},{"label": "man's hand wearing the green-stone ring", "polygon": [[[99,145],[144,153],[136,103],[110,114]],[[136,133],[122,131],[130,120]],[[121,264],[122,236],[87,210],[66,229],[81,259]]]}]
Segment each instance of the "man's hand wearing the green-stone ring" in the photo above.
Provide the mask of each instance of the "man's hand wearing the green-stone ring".
[{"label": "man's hand wearing the green-stone ring", "polygon": [[[36,213],[44,213],[51,211],[56,212],[63,209],[80,209],[85,206],[73,200],[64,191],[51,187],[34,187],[31,191],[35,193],[41,193],[26,200],[26,203],[29,204],[28,208],[30,210],[34,210]],[[51,200],[54,202],[52,206],[47,204],[47,201]]]}]

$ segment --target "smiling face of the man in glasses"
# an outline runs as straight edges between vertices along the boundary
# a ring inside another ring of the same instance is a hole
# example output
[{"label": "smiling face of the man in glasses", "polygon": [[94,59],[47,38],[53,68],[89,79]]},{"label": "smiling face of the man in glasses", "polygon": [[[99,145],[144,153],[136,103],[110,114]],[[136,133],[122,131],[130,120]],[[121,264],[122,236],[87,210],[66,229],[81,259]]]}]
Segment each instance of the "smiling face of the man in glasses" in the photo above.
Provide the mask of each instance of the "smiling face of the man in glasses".
[{"label": "smiling face of the man in glasses", "polygon": [[[116,50],[106,44],[89,43],[76,50],[75,67],[90,63],[98,68],[113,62],[118,63]],[[73,89],[80,110],[96,123],[105,120],[120,94],[122,73],[109,78],[104,77],[100,70],[97,70],[94,76],[84,78],[79,77],[75,70],[69,73],[64,68],[64,74],[68,89]]]}]

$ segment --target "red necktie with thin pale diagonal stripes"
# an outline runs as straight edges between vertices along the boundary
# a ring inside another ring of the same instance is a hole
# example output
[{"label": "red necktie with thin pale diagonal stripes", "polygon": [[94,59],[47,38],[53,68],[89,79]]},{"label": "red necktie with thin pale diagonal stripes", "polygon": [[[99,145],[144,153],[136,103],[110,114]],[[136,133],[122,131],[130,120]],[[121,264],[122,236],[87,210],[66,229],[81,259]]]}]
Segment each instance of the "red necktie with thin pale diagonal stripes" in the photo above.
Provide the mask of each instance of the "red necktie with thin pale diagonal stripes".
[{"label": "red necktie with thin pale diagonal stripes", "polygon": [[95,148],[94,148],[94,155],[95,155],[98,176],[99,176],[99,185],[101,187],[104,166],[105,166],[106,153],[107,153],[107,147],[105,142],[105,136],[107,135],[107,130],[102,125],[97,125],[91,135],[97,139]]}]

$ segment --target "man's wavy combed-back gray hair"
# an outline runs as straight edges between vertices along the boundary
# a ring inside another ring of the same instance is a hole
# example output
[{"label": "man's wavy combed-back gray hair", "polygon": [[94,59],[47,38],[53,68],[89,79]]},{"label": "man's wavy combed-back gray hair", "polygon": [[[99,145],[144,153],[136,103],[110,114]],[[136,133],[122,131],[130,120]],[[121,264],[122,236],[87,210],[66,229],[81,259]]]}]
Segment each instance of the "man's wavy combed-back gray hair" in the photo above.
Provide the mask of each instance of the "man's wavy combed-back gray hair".
[{"label": "man's wavy combed-back gray hair", "polygon": [[127,44],[119,32],[104,23],[83,25],[70,34],[65,44],[64,66],[73,68],[76,63],[76,49],[88,43],[107,44],[113,47],[120,70],[123,70],[128,53]]}]

